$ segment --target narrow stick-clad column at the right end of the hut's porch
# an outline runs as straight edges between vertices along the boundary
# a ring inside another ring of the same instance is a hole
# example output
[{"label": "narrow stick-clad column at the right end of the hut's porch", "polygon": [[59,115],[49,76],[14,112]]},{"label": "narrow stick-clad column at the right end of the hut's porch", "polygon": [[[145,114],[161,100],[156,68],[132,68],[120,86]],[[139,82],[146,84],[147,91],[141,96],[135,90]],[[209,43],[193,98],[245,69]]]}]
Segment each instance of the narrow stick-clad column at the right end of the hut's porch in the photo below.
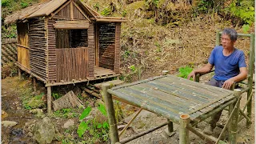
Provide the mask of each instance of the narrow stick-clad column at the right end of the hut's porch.
[{"label": "narrow stick-clad column at the right end of the hut's porch", "polygon": [[118,22],[115,26],[115,48],[114,48],[114,72],[120,72],[120,37],[121,37],[121,23]]}]

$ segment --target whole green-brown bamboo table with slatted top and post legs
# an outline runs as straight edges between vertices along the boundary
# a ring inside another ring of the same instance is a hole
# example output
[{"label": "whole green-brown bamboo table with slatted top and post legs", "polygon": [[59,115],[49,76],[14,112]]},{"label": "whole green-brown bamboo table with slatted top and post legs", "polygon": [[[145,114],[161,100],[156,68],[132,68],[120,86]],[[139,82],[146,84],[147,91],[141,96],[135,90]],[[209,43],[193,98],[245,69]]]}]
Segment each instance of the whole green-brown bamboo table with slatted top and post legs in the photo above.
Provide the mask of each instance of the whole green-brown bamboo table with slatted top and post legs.
[{"label": "whole green-brown bamboo table with slatted top and post legs", "polygon": [[[119,138],[112,95],[122,102],[162,115],[170,120],[168,121],[168,127],[172,127],[172,122],[180,125],[179,143],[184,144],[189,142],[189,130],[201,138],[216,142],[217,138],[202,134],[202,132],[194,129],[193,126],[219,110],[223,110],[226,106],[230,106],[230,113],[234,110],[232,114],[235,115],[229,125],[229,130],[231,130],[229,133],[230,143],[236,142],[239,109],[237,105],[234,106],[234,103],[238,102],[239,94],[234,94],[231,90],[192,82],[173,75],[149,78],[122,86],[115,86],[111,89],[110,85],[104,85],[103,97],[106,102],[110,123],[110,138],[111,142],[115,143],[119,142]],[[121,141],[121,143],[129,141]]]}]

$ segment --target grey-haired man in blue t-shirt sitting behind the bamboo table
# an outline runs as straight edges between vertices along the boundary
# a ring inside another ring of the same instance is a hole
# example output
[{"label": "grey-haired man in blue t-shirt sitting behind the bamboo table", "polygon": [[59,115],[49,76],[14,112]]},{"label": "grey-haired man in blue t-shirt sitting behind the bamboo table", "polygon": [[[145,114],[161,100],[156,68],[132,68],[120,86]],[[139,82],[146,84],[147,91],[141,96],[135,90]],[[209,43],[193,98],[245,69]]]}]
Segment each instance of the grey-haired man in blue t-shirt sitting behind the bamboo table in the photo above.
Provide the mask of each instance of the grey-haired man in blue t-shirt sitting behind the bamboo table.
[{"label": "grey-haired man in blue t-shirt sitting behind the bamboo table", "polygon": [[[215,46],[210,54],[206,66],[198,70],[193,70],[188,79],[194,78],[195,74],[206,74],[215,66],[215,75],[207,82],[207,85],[218,86],[223,89],[230,89],[234,82],[242,81],[247,76],[246,60],[242,50],[234,48],[234,43],[238,38],[238,33],[230,28],[226,28],[222,32],[222,46]],[[205,134],[213,134],[222,110],[212,116],[210,126],[204,130]]]}]

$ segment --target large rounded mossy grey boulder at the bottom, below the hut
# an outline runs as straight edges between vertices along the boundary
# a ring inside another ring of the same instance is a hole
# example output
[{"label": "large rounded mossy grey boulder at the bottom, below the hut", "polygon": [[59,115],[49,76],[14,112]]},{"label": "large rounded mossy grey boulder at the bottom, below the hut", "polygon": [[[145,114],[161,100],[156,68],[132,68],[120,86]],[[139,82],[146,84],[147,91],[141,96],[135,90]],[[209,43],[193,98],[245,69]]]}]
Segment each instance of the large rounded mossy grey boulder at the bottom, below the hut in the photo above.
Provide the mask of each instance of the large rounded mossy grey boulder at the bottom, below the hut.
[{"label": "large rounded mossy grey boulder at the bottom, below the hut", "polygon": [[50,121],[50,118],[45,117],[42,121],[35,124],[33,130],[33,138],[39,144],[51,143],[55,136],[54,123]]}]

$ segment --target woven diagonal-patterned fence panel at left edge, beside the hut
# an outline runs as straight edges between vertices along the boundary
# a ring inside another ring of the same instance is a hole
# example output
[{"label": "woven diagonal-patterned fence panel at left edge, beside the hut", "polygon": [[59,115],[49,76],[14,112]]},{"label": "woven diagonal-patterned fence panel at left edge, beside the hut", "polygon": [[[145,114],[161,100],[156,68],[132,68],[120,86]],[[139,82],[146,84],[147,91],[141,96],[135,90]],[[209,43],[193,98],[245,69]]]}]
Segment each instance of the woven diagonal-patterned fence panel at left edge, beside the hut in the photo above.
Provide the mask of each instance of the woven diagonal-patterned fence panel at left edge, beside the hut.
[{"label": "woven diagonal-patterned fence panel at left edge, beside the hut", "polygon": [[17,61],[17,38],[2,39],[2,65]]}]

